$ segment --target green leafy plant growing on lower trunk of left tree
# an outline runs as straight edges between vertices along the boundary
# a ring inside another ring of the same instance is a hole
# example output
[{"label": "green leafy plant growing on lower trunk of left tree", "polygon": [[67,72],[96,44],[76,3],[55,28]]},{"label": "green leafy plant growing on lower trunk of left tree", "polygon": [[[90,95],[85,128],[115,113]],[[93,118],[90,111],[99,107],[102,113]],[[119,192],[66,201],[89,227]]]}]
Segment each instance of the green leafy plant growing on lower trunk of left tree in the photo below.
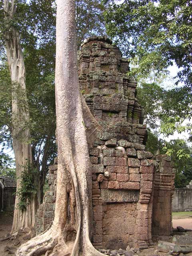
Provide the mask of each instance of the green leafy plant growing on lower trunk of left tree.
[{"label": "green leafy plant growing on lower trunk of left tree", "polygon": [[30,203],[31,196],[37,193],[38,189],[38,170],[29,162],[23,166],[23,171],[20,174],[20,188],[18,188],[16,195],[18,196],[18,208],[21,211],[26,210]]}]

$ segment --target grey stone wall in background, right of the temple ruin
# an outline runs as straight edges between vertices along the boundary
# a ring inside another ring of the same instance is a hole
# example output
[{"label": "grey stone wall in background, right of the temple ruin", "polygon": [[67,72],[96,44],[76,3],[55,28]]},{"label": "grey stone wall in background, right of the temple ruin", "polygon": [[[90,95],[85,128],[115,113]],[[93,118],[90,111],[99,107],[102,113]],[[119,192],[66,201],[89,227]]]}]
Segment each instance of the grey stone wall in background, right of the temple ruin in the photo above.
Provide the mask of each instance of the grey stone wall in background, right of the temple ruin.
[{"label": "grey stone wall in background, right of the temple ruin", "polygon": [[173,212],[192,211],[192,188],[176,188],[172,208]]}]

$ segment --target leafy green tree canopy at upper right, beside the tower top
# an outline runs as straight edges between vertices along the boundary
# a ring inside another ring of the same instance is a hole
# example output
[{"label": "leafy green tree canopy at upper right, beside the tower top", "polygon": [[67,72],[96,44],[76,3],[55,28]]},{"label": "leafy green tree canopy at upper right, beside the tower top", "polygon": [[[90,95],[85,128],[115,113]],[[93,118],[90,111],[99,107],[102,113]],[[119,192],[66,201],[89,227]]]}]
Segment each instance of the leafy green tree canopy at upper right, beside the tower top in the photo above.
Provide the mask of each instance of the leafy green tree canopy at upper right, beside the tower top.
[{"label": "leafy green tree canopy at upper right, beside the tower top", "polygon": [[[108,1],[105,1],[108,2]],[[105,12],[107,33],[130,58],[130,76],[140,80],[152,73],[154,82],[176,63],[182,86],[166,90],[161,128],[166,135],[191,130],[183,125],[192,114],[192,5],[190,0],[110,1]]]}]

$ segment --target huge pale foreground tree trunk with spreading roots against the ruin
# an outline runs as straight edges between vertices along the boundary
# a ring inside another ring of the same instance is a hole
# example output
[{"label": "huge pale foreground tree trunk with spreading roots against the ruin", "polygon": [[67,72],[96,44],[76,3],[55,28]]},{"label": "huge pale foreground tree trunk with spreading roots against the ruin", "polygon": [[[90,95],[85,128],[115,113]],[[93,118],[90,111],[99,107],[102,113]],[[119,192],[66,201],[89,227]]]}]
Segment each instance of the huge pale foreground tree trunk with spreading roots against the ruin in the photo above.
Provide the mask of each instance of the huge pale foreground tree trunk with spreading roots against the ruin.
[{"label": "huge pale foreground tree trunk with spreading roots against the ruin", "polygon": [[[56,120],[58,174],[54,221],[46,232],[23,244],[16,255],[53,256],[57,252],[57,256],[102,256],[90,242],[92,185],[87,139],[93,141],[98,124],[84,105],[78,87],[74,0],[57,0]],[[86,124],[90,125],[87,138]]]}]

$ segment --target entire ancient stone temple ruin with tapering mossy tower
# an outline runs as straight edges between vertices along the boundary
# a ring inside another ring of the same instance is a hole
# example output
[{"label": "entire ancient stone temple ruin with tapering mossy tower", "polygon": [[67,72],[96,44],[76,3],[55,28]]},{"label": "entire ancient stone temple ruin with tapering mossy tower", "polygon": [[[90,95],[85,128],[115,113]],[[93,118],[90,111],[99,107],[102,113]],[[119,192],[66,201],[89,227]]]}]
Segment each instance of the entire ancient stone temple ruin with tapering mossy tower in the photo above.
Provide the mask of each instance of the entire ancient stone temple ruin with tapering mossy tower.
[{"label": "entire ancient stone temple ruin with tapering mossy tower", "polygon": [[[80,90],[102,131],[90,148],[96,248],[152,246],[172,232],[174,169],[169,156],[145,151],[146,125],[136,98],[128,60],[106,37],[84,41],[79,55]],[[50,191],[38,210],[37,233],[54,216],[56,162],[49,169]]]}]

